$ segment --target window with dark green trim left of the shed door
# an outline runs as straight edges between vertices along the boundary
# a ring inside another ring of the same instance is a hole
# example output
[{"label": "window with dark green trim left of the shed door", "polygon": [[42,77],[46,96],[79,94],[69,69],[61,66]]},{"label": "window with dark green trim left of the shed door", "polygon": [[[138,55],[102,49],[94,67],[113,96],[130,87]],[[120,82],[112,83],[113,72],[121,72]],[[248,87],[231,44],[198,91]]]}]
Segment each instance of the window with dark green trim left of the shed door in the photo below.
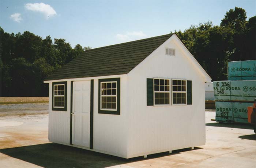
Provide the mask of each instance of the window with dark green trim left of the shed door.
[{"label": "window with dark green trim left of the shed door", "polygon": [[53,82],[52,110],[67,111],[67,82]]}]

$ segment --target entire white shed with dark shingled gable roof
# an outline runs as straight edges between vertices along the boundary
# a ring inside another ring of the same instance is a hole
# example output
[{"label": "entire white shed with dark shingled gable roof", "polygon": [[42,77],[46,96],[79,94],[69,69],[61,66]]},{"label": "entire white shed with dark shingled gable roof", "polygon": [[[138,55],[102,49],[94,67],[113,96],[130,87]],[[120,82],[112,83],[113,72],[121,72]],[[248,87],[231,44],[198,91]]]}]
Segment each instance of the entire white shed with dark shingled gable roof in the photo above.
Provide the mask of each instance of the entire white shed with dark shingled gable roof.
[{"label": "entire white shed with dark shingled gable roof", "polygon": [[49,141],[131,158],[205,144],[204,82],[176,34],[85,51],[49,83]]}]

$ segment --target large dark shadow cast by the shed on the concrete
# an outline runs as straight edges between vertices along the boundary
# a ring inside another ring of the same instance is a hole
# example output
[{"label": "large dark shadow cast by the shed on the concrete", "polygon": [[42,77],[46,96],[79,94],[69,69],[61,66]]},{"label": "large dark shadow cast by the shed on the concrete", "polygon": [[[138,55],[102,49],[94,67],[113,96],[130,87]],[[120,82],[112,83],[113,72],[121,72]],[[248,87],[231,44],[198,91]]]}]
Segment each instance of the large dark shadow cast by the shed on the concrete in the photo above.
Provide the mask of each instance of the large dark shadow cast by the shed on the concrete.
[{"label": "large dark shadow cast by the shed on the concrete", "polygon": [[[195,147],[196,149],[202,149]],[[147,159],[176,155],[180,152],[191,150],[190,148],[148,155]],[[46,143],[24,147],[1,149],[1,153],[20,159],[41,167],[90,167],[103,168],[135,161],[145,160],[143,157],[124,159],[121,157],[106,155],[103,153],[88,151],[85,149],[70,147],[67,145]]]}]

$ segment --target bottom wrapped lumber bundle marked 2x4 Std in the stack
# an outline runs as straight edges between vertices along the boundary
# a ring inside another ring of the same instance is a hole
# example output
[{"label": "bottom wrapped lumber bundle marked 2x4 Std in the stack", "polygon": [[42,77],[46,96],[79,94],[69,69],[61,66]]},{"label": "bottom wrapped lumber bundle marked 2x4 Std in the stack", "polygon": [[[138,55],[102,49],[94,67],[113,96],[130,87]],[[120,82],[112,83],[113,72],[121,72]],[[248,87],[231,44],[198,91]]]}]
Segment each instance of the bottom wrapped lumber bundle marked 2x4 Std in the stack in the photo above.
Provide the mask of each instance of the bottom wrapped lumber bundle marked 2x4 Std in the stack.
[{"label": "bottom wrapped lumber bundle marked 2x4 Std in the stack", "polygon": [[248,123],[247,107],[253,103],[216,101],[216,121]]}]

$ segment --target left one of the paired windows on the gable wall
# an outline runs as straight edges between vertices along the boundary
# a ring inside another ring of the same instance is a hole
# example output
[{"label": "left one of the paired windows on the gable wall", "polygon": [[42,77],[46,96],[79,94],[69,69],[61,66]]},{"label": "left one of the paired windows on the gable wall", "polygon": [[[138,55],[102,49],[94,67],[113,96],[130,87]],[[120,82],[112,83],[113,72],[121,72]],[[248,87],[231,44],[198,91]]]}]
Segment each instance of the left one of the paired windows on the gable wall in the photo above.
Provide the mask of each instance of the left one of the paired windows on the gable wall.
[{"label": "left one of the paired windows on the gable wall", "polygon": [[169,79],[154,79],[154,104],[170,104]]}]

